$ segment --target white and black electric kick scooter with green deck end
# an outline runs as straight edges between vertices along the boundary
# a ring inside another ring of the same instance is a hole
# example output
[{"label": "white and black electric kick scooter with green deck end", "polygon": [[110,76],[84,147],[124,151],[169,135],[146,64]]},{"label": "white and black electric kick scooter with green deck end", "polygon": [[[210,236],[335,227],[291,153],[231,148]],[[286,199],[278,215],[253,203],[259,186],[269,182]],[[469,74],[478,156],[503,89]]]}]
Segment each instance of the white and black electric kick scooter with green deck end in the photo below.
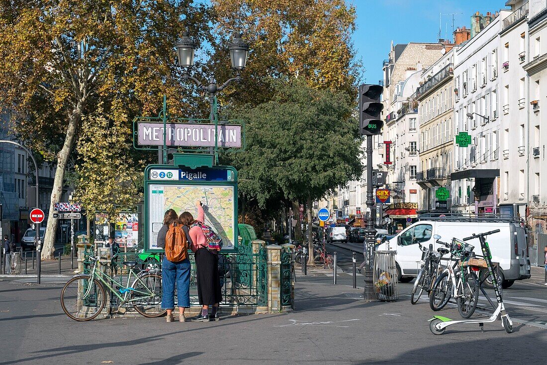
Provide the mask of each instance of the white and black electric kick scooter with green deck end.
[{"label": "white and black electric kick scooter with green deck end", "polygon": [[499,289],[501,286],[501,283],[498,283],[497,275],[494,275],[494,271],[492,269],[492,254],[490,253],[490,247],[488,247],[488,243],[486,242],[486,239],[485,239],[486,236],[492,235],[493,233],[498,233],[498,232],[499,230],[479,233],[478,235],[475,235],[475,233],[473,233],[473,236],[465,237],[463,239],[463,241],[469,241],[469,239],[479,238],[480,246],[482,249],[482,255],[484,255],[486,265],[488,266],[488,273],[490,274],[490,279],[492,280],[492,284],[494,287],[494,293],[496,293],[496,299],[498,301],[498,306],[496,308],[496,311],[494,311],[494,313],[492,314],[492,316],[490,316],[490,318],[480,318],[478,320],[453,321],[450,318],[446,318],[443,316],[434,316],[432,319],[429,320],[430,321],[429,329],[431,330],[433,334],[435,335],[443,334],[445,332],[446,327],[452,326],[452,324],[478,323],[482,331],[484,330],[484,323],[496,322],[500,315],[501,315],[503,328],[505,329],[505,332],[507,333],[513,332],[513,322],[511,321],[511,318],[509,318],[509,315],[507,314],[507,312],[505,312],[502,295]]}]

